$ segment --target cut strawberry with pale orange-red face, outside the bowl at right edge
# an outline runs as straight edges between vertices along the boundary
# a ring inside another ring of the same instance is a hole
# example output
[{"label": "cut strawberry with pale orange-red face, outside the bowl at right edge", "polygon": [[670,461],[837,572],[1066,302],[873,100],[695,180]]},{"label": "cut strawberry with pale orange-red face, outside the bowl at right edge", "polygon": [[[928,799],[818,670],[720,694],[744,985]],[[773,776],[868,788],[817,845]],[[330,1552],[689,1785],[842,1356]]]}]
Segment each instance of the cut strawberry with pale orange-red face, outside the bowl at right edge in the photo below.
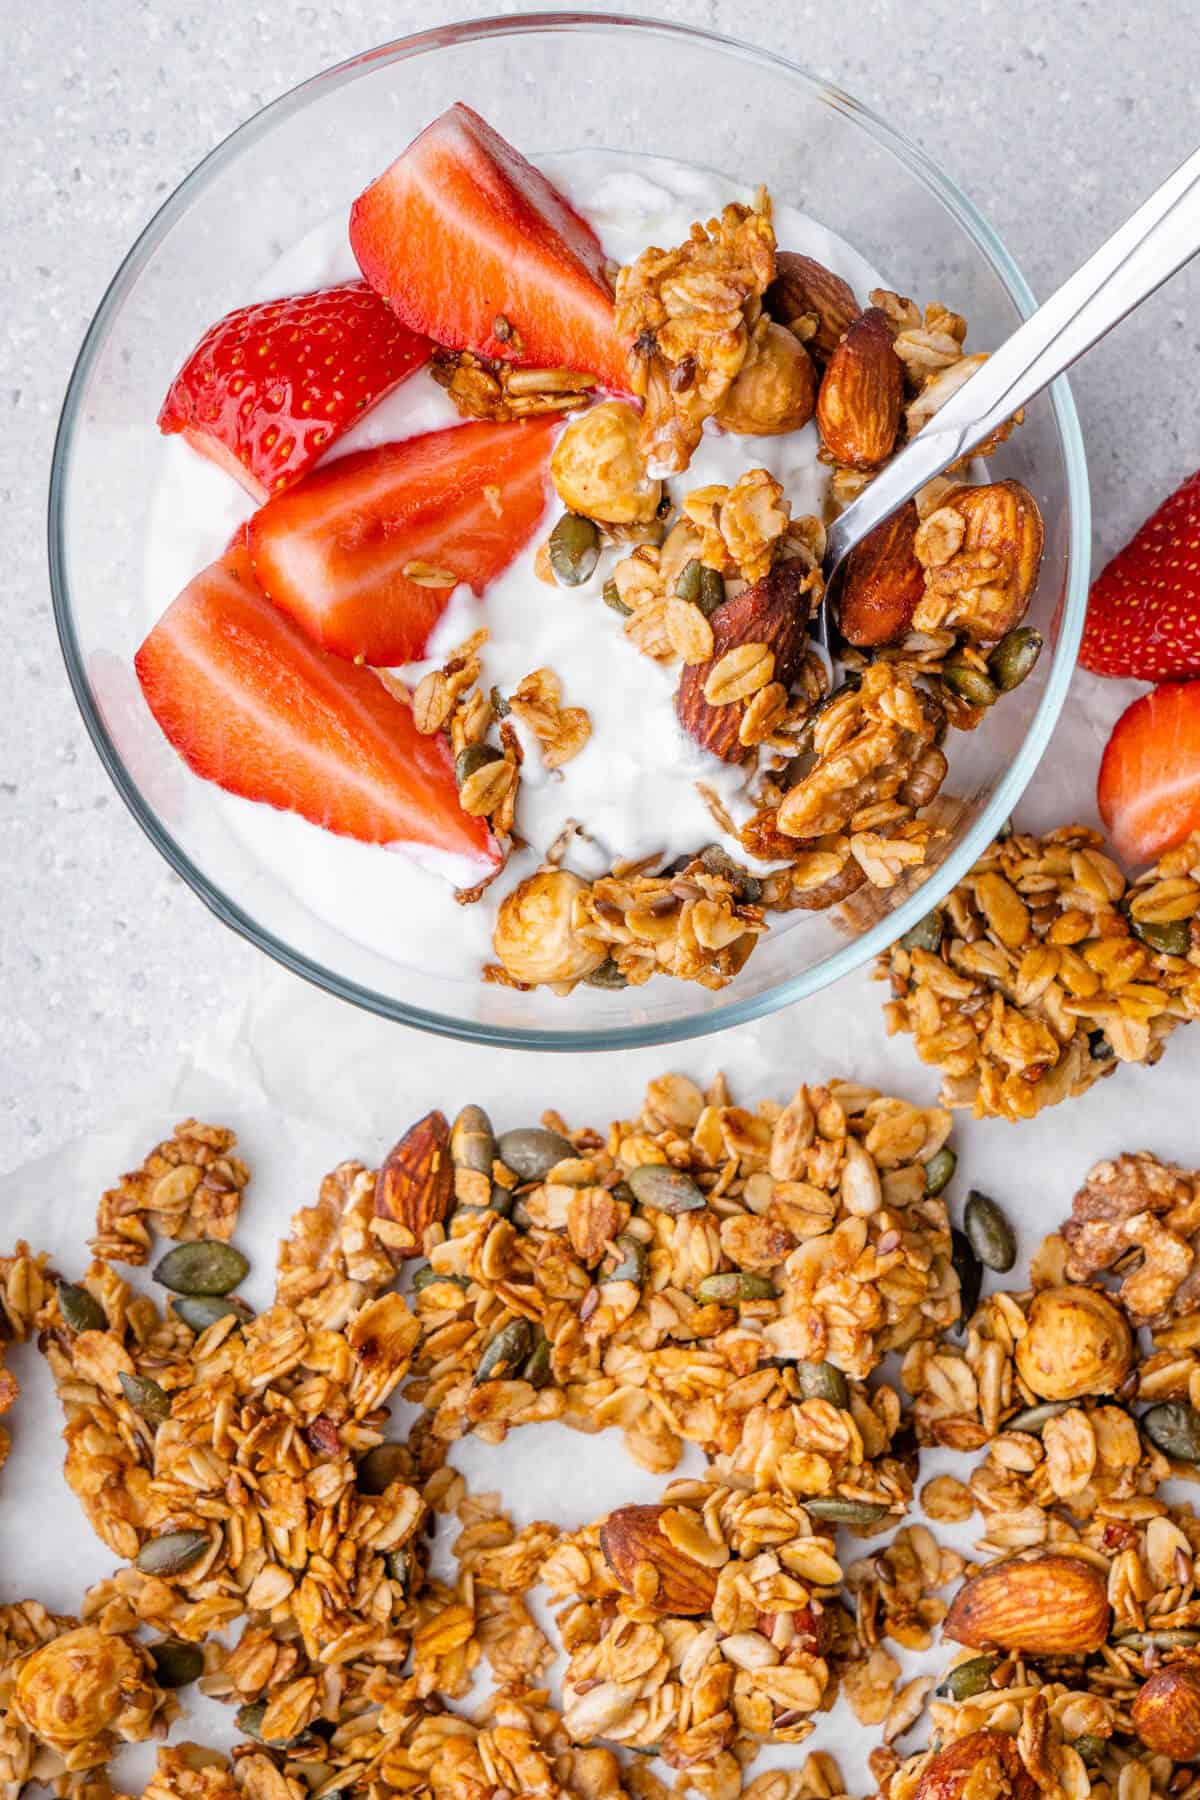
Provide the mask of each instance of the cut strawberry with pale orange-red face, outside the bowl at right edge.
[{"label": "cut strawberry with pale orange-red face, outside the bowl at right edge", "polygon": [[1096,788],[1119,855],[1155,862],[1200,832],[1200,680],[1166,682],[1112,729]]}]

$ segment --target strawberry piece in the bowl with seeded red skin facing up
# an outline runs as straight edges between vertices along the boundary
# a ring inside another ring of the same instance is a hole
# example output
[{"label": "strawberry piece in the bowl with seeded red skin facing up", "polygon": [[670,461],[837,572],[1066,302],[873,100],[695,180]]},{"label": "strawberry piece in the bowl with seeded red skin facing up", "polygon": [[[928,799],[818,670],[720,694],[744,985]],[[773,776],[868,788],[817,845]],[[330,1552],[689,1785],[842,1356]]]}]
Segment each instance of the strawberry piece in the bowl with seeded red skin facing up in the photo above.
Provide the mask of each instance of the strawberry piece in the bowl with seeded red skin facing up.
[{"label": "strawberry piece in the bowl with seeded red skin facing up", "polygon": [[434,346],[365,281],[241,306],[205,331],[162,403],[184,432],[264,500],[428,362]]}]

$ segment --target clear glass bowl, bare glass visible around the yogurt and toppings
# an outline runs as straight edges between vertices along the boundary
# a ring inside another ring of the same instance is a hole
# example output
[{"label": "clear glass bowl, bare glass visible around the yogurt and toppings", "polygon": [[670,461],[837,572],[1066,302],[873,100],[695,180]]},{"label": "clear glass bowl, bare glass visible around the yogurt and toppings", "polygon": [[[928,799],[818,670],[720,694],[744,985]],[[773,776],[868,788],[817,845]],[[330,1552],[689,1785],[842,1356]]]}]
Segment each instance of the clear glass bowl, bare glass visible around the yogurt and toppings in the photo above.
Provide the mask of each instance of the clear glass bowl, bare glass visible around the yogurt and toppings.
[{"label": "clear glass bowl, bare glass visible around the yogurt and toppings", "polygon": [[[527,14],[419,32],[329,68],[263,108],[171,194],[104,295],[70,380],[50,477],[50,578],[67,670],[92,740],[133,817],[201,900],[284,967],[389,1019],[480,1042],[603,1049],[720,1031],[804,999],[907,931],[959,880],[1020,797],[1054,729],[1076,657],[1088,571],[1088,490],[1065,383],[995,459],[1036,495],[1045,560],[1031,621],[1034,675],[973,734],[954,734],[959,819],[918,891],[878,895],[860,929],[797,914],[720,994],[655,977],[569,999],[455,981],[351,941],[284,891],[178,763],[131,673],[146,630],[142,551],[162,454],[158,403],[209,322],[356,193],[453,101],[527,155],[617,148],[766,182],[840,232],[891,286],[941,299],[999,344],[1031,293],[991,227],[896,130],[804,68],[682,25]],[[164,605],[171,596],[164,594]],[[448,929],[453,907],[448,905]]]}]

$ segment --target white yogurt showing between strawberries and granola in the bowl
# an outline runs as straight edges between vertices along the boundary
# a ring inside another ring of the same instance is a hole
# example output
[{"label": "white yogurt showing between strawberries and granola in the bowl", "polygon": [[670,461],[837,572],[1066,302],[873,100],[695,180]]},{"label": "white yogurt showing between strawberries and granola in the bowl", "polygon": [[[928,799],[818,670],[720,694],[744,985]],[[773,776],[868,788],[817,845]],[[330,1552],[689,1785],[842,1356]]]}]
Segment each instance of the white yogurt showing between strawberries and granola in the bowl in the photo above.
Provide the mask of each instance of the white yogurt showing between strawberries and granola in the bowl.
[{"label": "white yogurt showing between strawberries and granola in the bowl", "polygon": [[[750,200],[747,189],[718,175],[649,157],[578,151],[543,158],[542,167],[592,221],[604,250],[619,263],[631,261],[651,243],[680,243],[693,220],[720,212],[730,200]],[[777,198],[775,232],[786,248],[806,250],[844,275],[858,295],[880,284],[878,274],[847,243]],[[279,257],[248,299],[299,293],[356,275],[345,220],[336,218]],[[455,423],[453,405],[421,371],[349,430],[327,461]],[[817,463],[813,425],[784,437],[736,437],[709,428],[687,472],[675,477],[675,499],[709,482],[732,484],[748,468],[766,468],[783,482],[793,517],[820,513],[828,473]],[[196,571],[221,554],[252,509],[248,495],[228,475],[180,437],[164,439],[146,545],[148,626]],[[399,671],[416,680],[486,625],[486,688],[495,682],[507,693],[533,670],[551,668],[561,680],[563,704],[587,707],[592,720],[585,749],[554,772],[543,767],[536,740],[524,734],[516,823],[531,848],[509,860],[477,905],[453,902],[452,887],[479,878],[461,859],[358,844],[295,814],[218,796],[234,835],[282,887],[318,918],[396,963],[410,959],[405,945],[419,945],[421,967],[430,972],[457,977],[479,972],[491,956],[500,900],[538,866],[569,821],[587,832],[572,841],[569,864],[581,875],[599,875],[617,859],[653,855],[666,862],[720,842],[698,781],[714,788],[734,817],[747,810],[745,774],[700,751],[676,725],[678,668],[662,668],[640,655],[601,599],[621,553],[603,556],[596,576],[576,589],[551,589],[534,574],[534,551],[552,517],[554,495],[547,491],[545,527],[529,549],[482,599],[466,587],[457,589],[428,659]],[[725,841],[725,848],[745,860],[736,841]]]}]

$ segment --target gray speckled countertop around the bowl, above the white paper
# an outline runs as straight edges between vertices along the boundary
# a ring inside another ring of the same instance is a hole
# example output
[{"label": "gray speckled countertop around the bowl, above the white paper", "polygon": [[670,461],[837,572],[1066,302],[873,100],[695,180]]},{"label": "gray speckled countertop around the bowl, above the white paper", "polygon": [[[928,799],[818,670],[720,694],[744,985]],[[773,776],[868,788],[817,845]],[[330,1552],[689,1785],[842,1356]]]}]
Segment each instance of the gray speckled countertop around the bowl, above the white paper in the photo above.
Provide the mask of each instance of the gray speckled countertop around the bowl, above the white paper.
[{"label": "gray speckled countertop around the bowl, above the white paper", "polygon": [[[86,322],[171,187],[264,101],[471,7],[4,0],[0,70],[0,1168],[103,1120],[236,1006],[257,952],[149,848],[63,677],[45,567],[58,410]],[[1200,137],[1187,5],[655,0],[813,65],[903,126],[1045,293]],[[482,11],[482,7],[479,7]],[[515,13],[509,0],[493,11]],[[606,11],[635,11],[610,0]],[[1200,452],[1200,270],[1074,380],[1096,553]]]}]

